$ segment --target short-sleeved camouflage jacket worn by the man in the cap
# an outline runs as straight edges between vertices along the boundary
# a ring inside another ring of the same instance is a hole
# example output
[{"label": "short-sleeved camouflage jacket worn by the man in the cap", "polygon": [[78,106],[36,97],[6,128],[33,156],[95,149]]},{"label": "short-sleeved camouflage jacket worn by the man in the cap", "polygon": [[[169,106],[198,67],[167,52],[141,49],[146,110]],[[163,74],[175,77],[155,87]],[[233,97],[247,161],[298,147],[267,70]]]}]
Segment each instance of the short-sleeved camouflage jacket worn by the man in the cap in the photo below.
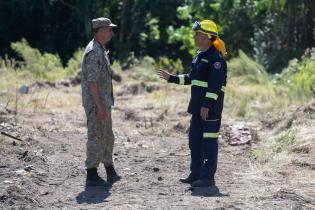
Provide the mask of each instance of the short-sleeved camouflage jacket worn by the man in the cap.
[{"label": "short-sleeved camouflage jacket worn by the man in the cap", "polygon": [[114,105],[112,69],[108,51],[94,39],[85,48],[81,64],[82,102],[85,108],[95,105],[89,91],[89,81],[98,82],[100,96],[106,107]]}]

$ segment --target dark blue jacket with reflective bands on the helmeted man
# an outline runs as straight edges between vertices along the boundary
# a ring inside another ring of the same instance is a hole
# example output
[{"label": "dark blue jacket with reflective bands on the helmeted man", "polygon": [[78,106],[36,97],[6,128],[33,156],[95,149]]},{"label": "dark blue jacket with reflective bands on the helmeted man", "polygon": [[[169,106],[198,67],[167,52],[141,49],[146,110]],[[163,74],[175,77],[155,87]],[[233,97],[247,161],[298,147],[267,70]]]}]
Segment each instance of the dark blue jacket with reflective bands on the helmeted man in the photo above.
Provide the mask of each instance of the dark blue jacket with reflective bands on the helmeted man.
[{"label": "dark blue jacket with reflective bands on the helmeted man", "polygon": [[201,107],[207,107],[208,119],[219,119],[223,110],[226,76],[226,61],[212,46],[205,52],[198,51],[189,74],[171,75],[168,82],[191,85],[190,114],[199,114]]}]

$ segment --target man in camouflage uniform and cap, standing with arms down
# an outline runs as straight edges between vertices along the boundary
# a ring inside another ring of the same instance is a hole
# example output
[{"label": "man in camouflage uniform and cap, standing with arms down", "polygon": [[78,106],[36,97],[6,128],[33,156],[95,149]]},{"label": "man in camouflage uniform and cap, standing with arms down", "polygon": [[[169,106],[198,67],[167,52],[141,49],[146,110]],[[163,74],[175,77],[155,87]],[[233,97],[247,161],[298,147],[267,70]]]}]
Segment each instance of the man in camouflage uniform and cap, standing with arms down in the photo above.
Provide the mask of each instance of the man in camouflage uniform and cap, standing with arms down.
[{"label": "man in camouflage uniform and cap, standing with arms down", "polygon": [[81,65],[83,107],[87,117],[88,141],[86,143],[87,184],[99,183],[97,167],[102,162],[107,181],[121,179],[113,166],[114,134],[111,106],[114,105],[112,69],[105,45],[113,36],[116,25],[108,18],[92,20],[94,39],[85,48]]}]

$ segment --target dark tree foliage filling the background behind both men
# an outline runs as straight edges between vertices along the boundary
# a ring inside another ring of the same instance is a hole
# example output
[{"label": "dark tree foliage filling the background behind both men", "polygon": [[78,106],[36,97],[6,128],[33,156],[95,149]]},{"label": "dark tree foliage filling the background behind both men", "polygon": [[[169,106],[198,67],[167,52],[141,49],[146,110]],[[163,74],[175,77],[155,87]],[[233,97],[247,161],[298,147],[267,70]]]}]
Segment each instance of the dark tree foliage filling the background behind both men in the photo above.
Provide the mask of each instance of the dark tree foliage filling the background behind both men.
[{"label": "dark tree foliage filling the background behind both men", "polygon": [[121,63],[148,55],[189,66],[191,26],[202,19],[218,24],[228,58],[241,49],[271,73],[315,45],[312,0],[7,0],[0,1],[0,56],[16,57],[11,42],[25,38],[65,64],[91,39],[90,21],[99,16],[119,26],[109,48]]}]

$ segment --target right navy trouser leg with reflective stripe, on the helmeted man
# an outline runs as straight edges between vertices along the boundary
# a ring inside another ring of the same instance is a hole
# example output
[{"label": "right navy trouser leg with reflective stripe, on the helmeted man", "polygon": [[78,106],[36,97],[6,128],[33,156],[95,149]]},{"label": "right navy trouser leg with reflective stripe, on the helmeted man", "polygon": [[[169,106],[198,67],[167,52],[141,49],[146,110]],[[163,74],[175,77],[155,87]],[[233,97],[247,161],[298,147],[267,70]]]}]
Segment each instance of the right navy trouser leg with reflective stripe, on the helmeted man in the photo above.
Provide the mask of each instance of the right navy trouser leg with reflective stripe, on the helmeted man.
[{"label": "right navy trouser leg with reflective stripe, on the helmeted man", "polygon": [[214,179],[218,163],[218,136],[221,120],[203,121],[203,157],[201,178]]}]

